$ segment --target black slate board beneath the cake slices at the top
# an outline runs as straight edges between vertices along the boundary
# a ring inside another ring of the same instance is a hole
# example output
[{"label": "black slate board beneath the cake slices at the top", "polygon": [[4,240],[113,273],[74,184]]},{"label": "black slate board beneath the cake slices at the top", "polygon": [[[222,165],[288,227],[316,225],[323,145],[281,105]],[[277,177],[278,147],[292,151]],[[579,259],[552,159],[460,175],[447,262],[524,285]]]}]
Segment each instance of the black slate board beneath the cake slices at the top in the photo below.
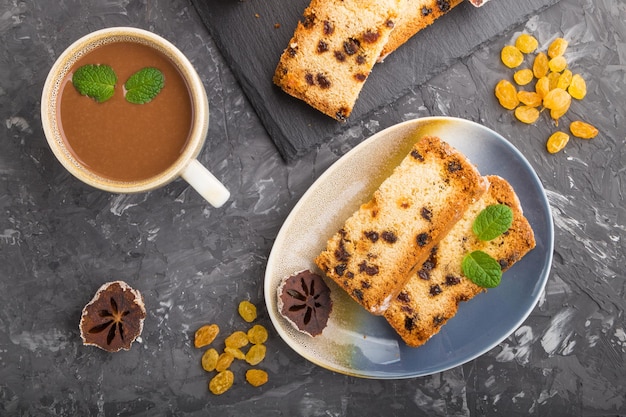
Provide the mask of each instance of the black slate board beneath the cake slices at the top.
[{"label": "black slate board beneath the cake slices at the top", "polygon": [[350,119],[340,123],[273,85],[272,76],[309,0],[192,0],[286,161],[349,128],[559,0],[463,2],[377,64]]}]

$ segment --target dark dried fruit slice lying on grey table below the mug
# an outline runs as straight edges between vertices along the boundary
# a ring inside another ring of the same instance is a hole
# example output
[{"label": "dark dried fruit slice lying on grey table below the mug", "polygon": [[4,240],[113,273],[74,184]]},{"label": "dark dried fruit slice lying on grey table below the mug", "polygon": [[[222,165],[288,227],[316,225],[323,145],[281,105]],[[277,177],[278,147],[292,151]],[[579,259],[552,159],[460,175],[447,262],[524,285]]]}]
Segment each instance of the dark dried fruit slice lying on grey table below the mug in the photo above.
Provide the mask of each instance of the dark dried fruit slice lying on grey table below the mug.
[{"label": "dark dried fruit slice lying on grey table below the mug", "polygon": [[122,281],[103,285],[83,309],[81,338],[109,352],[128,350],[141,334],[146,310],[139,291]]}]

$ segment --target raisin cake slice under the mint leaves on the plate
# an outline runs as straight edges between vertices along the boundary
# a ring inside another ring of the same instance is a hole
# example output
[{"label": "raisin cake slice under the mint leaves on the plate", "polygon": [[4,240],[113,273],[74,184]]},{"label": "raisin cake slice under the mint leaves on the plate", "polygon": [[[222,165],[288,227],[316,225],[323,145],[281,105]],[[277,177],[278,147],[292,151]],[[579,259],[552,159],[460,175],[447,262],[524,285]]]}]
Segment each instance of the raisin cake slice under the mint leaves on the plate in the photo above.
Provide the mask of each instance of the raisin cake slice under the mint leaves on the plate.
[{"label": "raisin cake slice under the mint leaves on the plate", "polygon": [[[482,250],[506,270],[535,247],[535,237],[524,217],[513,187],[501,177],[488,176],[489,190],[465,212],[452,230],[434,246],[429,259],[412,274],[391,302],[384,316],[409,346],[420,346],[437,334],[458,310],[459,303],[484,291],[462,273],[466,254]],[[472,225],[492,204],[506,204],[513,211],[509,230],[490,241],[478,240]]]}]

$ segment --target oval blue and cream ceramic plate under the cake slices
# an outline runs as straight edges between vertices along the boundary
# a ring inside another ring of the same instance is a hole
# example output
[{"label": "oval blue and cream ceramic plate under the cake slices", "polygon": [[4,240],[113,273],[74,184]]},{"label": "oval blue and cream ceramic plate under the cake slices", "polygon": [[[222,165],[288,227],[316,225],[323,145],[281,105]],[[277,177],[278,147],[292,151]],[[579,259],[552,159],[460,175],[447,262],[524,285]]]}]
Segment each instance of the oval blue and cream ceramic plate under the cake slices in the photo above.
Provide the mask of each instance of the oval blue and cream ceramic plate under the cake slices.
[{"label": "oval blue and cream ceramic plate under the cake slices", "polygon": [[[437,135],[463,152],[481,174],[495,174],[515,188],[537,246],[506,271],[502,283],[461,303],[457,315],[425,345],[404,344],[384,318],[369,314],[327,280],[333,299],[328,326],[317,337],[295,330],[277,308],[281,280],[313,262],[327,239],[371,197],[410,147]],[[267,310],[278,334],[309,361],[364,378],[411,378],[468,362],[515,331],[531,313],[552,263],[554,229],[550,207],[536,173],[524,156],[496,132],[467,120],[431,117],[385,129],[344,155],[304,194],[282,226],[265,273]]]}]

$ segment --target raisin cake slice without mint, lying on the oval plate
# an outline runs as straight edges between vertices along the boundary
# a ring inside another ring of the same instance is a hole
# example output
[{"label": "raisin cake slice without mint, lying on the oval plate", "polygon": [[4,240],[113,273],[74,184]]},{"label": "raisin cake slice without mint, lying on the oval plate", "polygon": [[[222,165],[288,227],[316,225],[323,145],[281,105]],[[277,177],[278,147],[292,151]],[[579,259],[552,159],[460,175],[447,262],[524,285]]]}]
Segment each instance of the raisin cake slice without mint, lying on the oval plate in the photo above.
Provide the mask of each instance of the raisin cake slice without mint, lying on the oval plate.
[{"label": "raisin cake slice without mint, lying on the oval plate", "polygon": [[486,187],[463,154],[425,136],[329,239],[315,263],[380,315]]}]

